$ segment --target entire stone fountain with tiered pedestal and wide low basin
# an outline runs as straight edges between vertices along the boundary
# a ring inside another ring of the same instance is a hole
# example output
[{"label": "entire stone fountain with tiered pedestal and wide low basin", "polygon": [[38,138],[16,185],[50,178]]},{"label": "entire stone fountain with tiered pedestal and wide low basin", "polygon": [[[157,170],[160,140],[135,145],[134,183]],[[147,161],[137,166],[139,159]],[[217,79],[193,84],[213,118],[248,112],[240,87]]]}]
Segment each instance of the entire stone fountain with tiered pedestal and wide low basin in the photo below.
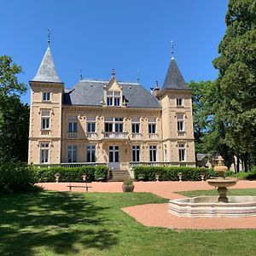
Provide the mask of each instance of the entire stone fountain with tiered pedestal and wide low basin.
[{"label": "entire stone fountain with tiered pedestal and wide low basin", "polygon": [[228,188],[236,185],[236,178],[225,178],[224,159],[218,156],[214,171],[218,177],[207,179],[210,186],[218,188],[218,196],[196,196],[171,200],[168,212],[179,217],[245,217],[256,216],[256,196],[227,196]]}]

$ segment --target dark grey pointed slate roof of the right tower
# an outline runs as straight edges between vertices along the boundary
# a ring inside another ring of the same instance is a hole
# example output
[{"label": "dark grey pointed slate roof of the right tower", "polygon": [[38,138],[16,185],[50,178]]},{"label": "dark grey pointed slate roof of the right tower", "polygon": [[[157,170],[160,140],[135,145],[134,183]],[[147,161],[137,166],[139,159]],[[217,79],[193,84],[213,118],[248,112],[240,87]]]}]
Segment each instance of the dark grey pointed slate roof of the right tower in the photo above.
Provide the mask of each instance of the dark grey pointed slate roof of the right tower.
[{"label": "dark grey pointed slate roof of the right tower", "polygon": [[183,75],[177,67],[177,63],[172,58],[168,71],[166,73],[166,79],[164,84],[160,90],[160,93],[164,90],[191,90],[188,88],[185,80],[183,79]]}]

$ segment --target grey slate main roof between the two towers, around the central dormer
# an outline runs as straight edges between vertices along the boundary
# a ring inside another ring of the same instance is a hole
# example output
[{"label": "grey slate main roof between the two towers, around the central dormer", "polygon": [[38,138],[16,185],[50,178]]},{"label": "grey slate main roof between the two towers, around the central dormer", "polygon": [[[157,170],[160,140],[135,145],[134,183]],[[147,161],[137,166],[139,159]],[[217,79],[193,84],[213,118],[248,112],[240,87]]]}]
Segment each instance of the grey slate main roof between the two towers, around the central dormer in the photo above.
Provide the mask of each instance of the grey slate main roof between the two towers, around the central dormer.
[{"label": "grey slate main roof between the two towers, around the central dormer", "polygon": [[[127,108],[161,108],[159,100],[141,84],[118,82],[123,86]],[[64,104],[79,106],[102,106],[104,85],[108,81],[80,80],[72,90],[65,90]]]}]

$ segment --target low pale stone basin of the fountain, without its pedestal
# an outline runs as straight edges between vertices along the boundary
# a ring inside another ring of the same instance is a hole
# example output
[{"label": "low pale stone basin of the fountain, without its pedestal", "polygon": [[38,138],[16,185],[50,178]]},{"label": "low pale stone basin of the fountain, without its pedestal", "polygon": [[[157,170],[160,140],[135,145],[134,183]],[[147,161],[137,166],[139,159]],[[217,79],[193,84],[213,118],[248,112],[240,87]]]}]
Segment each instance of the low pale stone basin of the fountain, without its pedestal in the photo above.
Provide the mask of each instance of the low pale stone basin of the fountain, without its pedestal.
[{"label": "low pale stone basin of the fountain, without its pedestal", "polygon": [[218,196],[196,196],[169,201],[168,212],[178,217],[247,217],[256,216],[256,196],[228,196],[229,202],[218,202]]}]

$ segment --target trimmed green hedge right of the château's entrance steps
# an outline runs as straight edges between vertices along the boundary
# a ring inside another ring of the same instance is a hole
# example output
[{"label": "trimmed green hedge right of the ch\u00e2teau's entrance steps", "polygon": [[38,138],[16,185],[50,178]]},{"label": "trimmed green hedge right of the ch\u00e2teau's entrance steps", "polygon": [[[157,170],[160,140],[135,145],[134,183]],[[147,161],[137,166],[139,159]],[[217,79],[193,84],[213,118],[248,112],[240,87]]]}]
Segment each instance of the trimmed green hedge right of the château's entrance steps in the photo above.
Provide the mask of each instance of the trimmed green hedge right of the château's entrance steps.
[{"label": "trimmed green hedge right of the ch\u00e2teau's entrance steps", "polygon": [[135,179],[144,181],[155,181],[156,175],[159,175],[160,181],[178,181],[178,172],[182,172],[183,181],[200,181],[201,174],[205,175],[205,179],[218,176],[213,169],[203,167],[134,166],[133,171]]}]

